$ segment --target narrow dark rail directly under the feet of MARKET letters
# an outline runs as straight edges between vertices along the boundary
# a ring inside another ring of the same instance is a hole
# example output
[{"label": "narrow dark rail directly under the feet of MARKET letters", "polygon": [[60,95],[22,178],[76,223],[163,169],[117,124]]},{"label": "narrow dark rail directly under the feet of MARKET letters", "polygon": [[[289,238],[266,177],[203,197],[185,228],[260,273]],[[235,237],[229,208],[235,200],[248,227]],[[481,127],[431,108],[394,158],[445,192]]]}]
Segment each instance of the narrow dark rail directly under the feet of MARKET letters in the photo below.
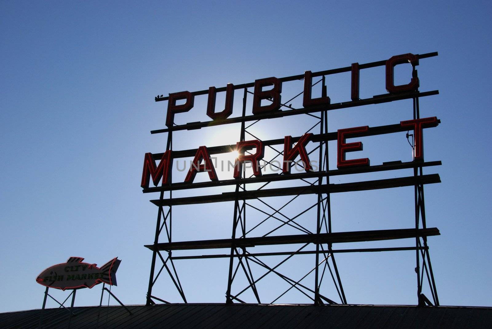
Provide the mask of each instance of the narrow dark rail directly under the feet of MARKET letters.
[{"label": "narrow dark rail directly under the feet of MARKET letters", "polygon": [[382,165],[368,166],[368,167],[358,167],[358,168],[342,168],[329,170],[328,172],[307,172],[307,173],[295,173],[295,174],[267,174],[260,177],[250,177],[243,179],[224,179],[224,180],[211,180],[211,181],[201,181],[197,183],[173,183],[164,186],[148,187],[143,189],[143,193],[160,192],[160,191],[176,191],[185,190],[192,188],[205,188],[205,187],[217,187],[217,186],[228,186],[236,184],[253,184],[253,183],[263,183],[267,181],[279,181],[279,180],[290,180],[290,179],[308,179],[308,178],[318,178],[318,177],[328,177],[328,176],[338,176],[338,175],[351,175],[351,174],[362,174],[362,173],[374,173],[387,170],[399,170],[408,168],[419,168],[419,167],[430,167],[430,166],[440,166],[441,161],[430,161],[430,162],[419,162],[419,161],[393,161],[385,162]]}]

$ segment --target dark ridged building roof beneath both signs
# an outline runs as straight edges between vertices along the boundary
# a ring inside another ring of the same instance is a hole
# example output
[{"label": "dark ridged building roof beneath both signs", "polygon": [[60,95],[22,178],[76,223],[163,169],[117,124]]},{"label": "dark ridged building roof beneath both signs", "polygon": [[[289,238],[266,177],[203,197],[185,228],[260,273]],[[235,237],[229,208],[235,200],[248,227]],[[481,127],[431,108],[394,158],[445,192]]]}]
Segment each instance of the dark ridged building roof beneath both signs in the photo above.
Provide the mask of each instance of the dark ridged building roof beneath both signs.
[{"label": "dark ridged building roof beneath both signs", "polygon": [[0,313],[0,328],[492,328],[491,307],[158,304]]}]

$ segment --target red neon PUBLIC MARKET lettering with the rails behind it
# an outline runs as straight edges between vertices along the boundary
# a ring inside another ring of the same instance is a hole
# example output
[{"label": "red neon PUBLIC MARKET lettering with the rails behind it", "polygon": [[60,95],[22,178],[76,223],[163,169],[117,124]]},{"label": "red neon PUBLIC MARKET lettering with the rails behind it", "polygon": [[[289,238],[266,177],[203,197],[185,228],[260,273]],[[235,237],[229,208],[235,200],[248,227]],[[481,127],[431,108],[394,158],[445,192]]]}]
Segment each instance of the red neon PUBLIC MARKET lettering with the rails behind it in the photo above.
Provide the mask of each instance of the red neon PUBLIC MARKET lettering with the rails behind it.
[{"label": "red neon PUBLIC MARKET lettering with the rails behind it", "polygon": [[[430,56],[435,56],[433,53],[428,54]],[[429,57],[430,57],[429,56]],[[167,115],[166,115],[166,126],[167,129],[161,129],[159,131],[154,132],[171,132],[174,130],[183,130],[183,129],[197,129],[202,126],[208,125],[216,125],[216,124],[227,124],[227,123],[236,123],[239,121],[250,121],[257,119],[266,119],[266,118],[276,118],[287,115],[294,114],[304,114],[310,112],[319,112],[324,109],[335,109],[335,108],[343,108],[343,107],[351,107],[351,106],[359,106],[366,104],[375,104],[378,102],[385,102],[397,99],[405,99],[411,98],[410,94],[417,92],[419,87],[419,78],[417,76],[417,70],[415,66],[419,64],[419,55],[413,54],[403,54],[398,56],[393,56],[386,62],[379,63],[369,63],[369,64],[361,64],[353,63],[349,68],[341,68],[330,71],[322,71],[312,73],[311,71],[306,71],[304,75],[300,76],[292,76],[286,78],[264,78],[259,79],[254,82],[254,92],[253,92],[253,104],[252,104],[252,116],[245,117],[243,113],[242,118],[232,118],[228,119],[233,112],[233,101],[234,101],[234,90],[248,87],[248,84],[237,85],[228,84],[225,88],[215,88],[210,87],[208,90],[208,103],[207,103],[207,116],[212,119],[210,122],[191,122],[185,125],[176,126],[174,125],[174,118],[179,113],[188,112],[193,108],[194,105],[194,96],[205,94],[204,91],[181,91],[170,93],[168,97],[157,96],[155,97],[156,101],[168,100],[167,105]],[[394,69],[395,66],[402,63],[410,63],[413,67],[412,76],[410,78],[410,82],[405,85],[395,86],[394,83]],[[359,71],[363,68],[369,68],[379,65],[385,65],[385,76],[386,76],[386,90],[389,94],[386,95],[386,98],[381,99],[360,99],[359,98]],[[337,71],[338,70],[338,71]],[[336,71],[336,72],[331,72]],[[311,97],[311,89],[312,89],[312,78],[314,76],[321,76],[324,74],[332,74],[338,72],[351,72],[351,101],[338,103],[338,104],[330,104],[330,97],[326,94],[326,90],[322,90],[322,96],[318,98]],[[280,108],[285,106],[281,103],[281,92],[282,92],[282,82],[283,81],[292,81],[304,78],[304,95],[303,95],[303,109],[293,109],[287,111],[281,111]],[[251,87],[253,87],[251,86]],[[263,90],[264,87],[272,86],[269,90]],[[217,91],[225,91],[225,107],[222,111],[216,112],[215,109],[215,98]],[[262,100],[270,100],[271,104],[261,105]],[[176,102],[179,100],[184,100],[184,104],[176,105]],[[360,127],[350,127],[344,129],[338,129],[337,131],[337,168],[353,168],[353,167],[363,167],[369,166],[369,158],[359,158],[359,159],[350,159],[347,160],[345,155],[347,152],[360,151],[363,149],[362,142],[352,142],[346,143],[347,138],[354,137],[364,137],[374,134],[387,132],[395,132],[395,131],[407,131],[413,130],[414,136],[414,160],[420,161],[423,159],[423,145],[422,145],[422,130],[423,128],[435,127],[439,123],[436,117],[429,118],[418,118],[413,120],[402,120],[395,125],[383,127],[369,127],[369,126],[360,126]],[[389,131],[384,131],[384,129]],[[291,173],[291,166],[293,161],[300,157],[300,160],[303,163],[304,169],[306,172],[314,171],[310,165],[310,160],[308,157],[308,153],[306,151],[306,145],[309,142],[320,142],[329,140],[329,134],[324,134],[324,136],[313,135],[312,133],[304,134],[303,136],[292,137],[285,136],[283,140],[276,141],[276,143],[272,144],[283,144],[283,162],[281,165],[281,173],[285,177],[287,177]],[[273,141],[267,141],[273,142]],[[261,166],[260,160],[264,156],[265,144],[266,142],[262,142],[259,140],[248,140],[241,141],[236,143],[234,150],[238,152],[238,157],[236,158],[236,162],[234,165],[234,179],[241,179],[242,166],[244,163],[250,163],[252,165],[253,174],[255,177],[261,176]],[[294,143],[296,143],[294,145]],[[255,149],[254,153],[249,152],[246,154],[245,152],[248,150]],[[231,150],[228,150],[231,151]],[[225,151],[223,151],[225,152]],[[220,153],[220,152],[215,152]],[[211,181],[217,181],[217,175],[215,172],[215,167],[212,163],[212,159],[210,157],[210,151],[207,146],[200,146],[197,150],[193,152],[193,154],[189,156],[193,156],[194,159],[191,162],[187,175],[182,184],[189,184],[190,186],[193,183],[193,180],[197,173],[206,172]],[[144,165],[142,171],[142,180],[141,187],[144,189],[144,192],[151,191],[149,189],[149,183],[152,179],[154,186],[157,186],[159,182],[161,182],[162,186],[170,184],[169,181],[170,171],[172,168],[172,162],[175,158],[175,153],[172,150],[167,150],[164,153],[160,154],[152,154],[146,153],[144,156]],[[155,160],[160,160],[159,164],[156,165]]]}]

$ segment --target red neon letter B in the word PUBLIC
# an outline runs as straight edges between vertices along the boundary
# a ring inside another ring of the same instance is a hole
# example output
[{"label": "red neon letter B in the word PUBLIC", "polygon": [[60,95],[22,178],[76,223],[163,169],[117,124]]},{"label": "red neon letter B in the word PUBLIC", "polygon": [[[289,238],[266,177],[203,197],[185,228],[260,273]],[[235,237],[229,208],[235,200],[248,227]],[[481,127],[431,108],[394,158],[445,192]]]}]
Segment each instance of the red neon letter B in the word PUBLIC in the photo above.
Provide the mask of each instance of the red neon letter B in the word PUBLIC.
[{"label": "red neon letter B in the word PUBLIC", "polygon": [[[271,85],[274,86],[271,90],[262,90],[263,87]],[[276,111],[280,109],[281,92],[282,82],[275,77],[255,80],[253,94],[253,114]],[[272,104],[261,106],[262,99],[270,99],[272,101]]]}]

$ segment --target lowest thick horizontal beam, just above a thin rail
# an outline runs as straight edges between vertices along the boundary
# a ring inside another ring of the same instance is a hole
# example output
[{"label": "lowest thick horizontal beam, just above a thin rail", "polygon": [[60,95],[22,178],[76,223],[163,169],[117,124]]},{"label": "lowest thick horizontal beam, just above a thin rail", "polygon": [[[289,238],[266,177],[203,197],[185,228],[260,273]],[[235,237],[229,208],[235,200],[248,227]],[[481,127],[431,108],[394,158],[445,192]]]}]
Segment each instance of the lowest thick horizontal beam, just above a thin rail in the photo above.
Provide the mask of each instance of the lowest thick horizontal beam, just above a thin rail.
[{"label": "lowest thick horizontal beam, just above a thin rail", "polygon": [[[215,239],[198,241],[181,241],[148,244],[145,247],[151,250],[192,250],[192,249],[216,249],[254,247],[258,245],[277,245],[293,243],[345,243],[379,241],[393,239],[409,239],[417,237],[429,237],[440,235],[435,227],[426,229],[396,229],[375,231],[354,231],[320,234],[298,234],[288,236],[237,238],[237,239]],[[230,255],[229,255],[230,256]]]}]

